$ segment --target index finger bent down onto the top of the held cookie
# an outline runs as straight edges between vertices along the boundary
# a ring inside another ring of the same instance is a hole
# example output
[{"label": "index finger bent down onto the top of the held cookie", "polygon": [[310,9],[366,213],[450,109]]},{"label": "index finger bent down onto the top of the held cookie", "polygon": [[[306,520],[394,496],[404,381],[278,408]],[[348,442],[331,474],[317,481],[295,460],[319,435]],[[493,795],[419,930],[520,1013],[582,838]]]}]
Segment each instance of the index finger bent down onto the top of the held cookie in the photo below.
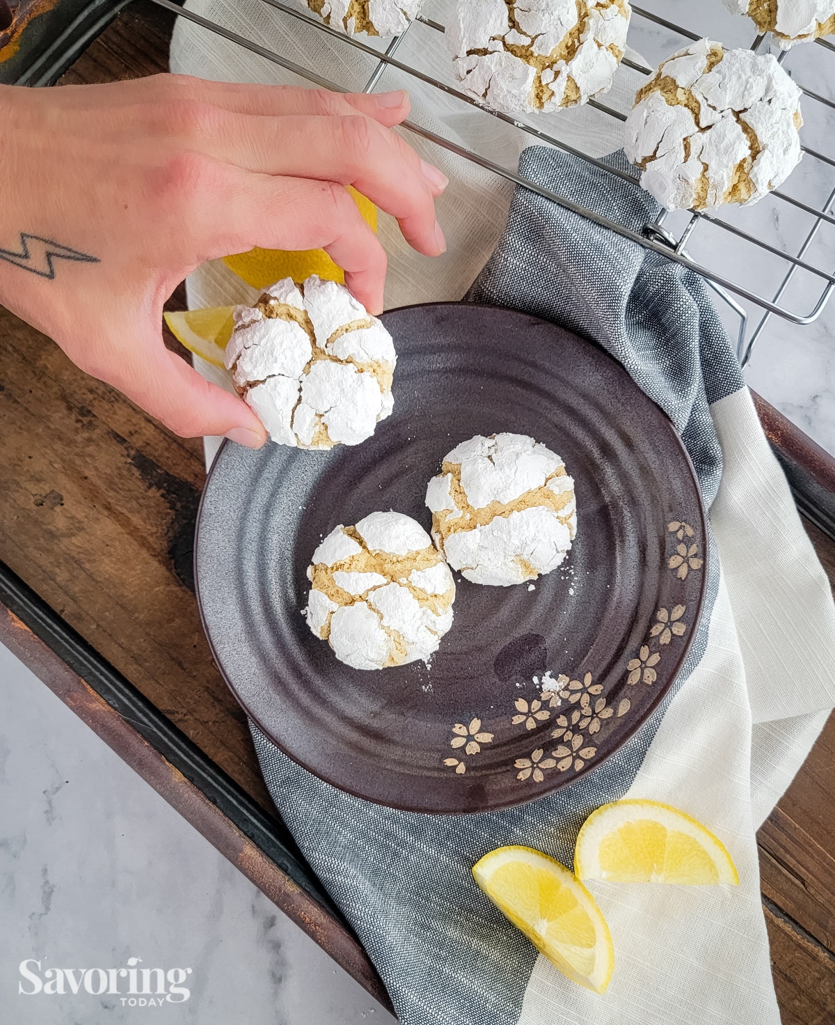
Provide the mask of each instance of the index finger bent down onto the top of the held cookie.
[{"label": "index finger bent down onto the top of the held cookie", "polygon": [[[224,253],[264,249],[325,249],[345,272],[345,283],[366,309],[382,311],[386,258],[341,184],[224,169],[213,203],[192,215],[196,262]],[[198,224],[195,218],[202,217]]]}]

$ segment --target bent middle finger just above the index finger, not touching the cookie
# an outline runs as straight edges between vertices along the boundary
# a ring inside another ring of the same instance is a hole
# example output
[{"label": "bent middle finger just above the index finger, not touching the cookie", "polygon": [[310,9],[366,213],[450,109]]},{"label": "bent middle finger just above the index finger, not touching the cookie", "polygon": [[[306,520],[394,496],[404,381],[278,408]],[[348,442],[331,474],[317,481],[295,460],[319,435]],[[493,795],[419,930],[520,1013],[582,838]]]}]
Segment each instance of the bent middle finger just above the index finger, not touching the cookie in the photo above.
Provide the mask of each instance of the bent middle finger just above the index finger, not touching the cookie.
[{"label": "bent middle finger just above the index finger, not touching the cookie", "polygon": [[396,217],[406,241],[426,256],[443,252],[433,196],[447,179],[398,134],[369,118],[264,118],[218,112],[203,136],[216,159],[259,174],[353,186]]}]

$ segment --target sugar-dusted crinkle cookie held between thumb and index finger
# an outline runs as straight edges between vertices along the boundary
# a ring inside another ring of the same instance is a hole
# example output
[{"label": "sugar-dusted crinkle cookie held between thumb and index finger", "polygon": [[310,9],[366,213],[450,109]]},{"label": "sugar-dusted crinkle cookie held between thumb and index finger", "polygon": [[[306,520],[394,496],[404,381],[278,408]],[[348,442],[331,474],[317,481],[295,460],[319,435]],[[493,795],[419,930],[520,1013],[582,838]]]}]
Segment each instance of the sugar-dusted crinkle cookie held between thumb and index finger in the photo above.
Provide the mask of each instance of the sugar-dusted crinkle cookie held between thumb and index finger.
[{"label": "sugar-dusted crinkle cookie held between thumb and index finger", "polygon": [[234,316],[225,366],[274,442],[359,445],[390,414],[391,335],[344,285],[284,278]]}]

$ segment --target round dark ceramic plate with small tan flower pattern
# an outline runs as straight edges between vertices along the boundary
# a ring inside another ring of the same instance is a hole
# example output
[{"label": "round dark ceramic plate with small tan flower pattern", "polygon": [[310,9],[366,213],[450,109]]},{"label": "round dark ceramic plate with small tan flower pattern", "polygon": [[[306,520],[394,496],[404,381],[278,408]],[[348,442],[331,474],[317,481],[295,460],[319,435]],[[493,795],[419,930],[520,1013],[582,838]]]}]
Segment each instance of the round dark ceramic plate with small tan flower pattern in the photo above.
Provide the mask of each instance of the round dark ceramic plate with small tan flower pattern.
[{"label": "round dark ceramic plate with small tan flower pattern", "polygon": [[[394,808],[508,808],[593,771],[675,679],[705,588],[699,489],[670,421],[589,342],[471,304],[383,319],[394,413],[372,439],[220,450],[198,523],[203,622],[247,713],[311,773]],[[460,580],[431,667],[338,662],[299,611],[323,534],[388,508],[428,530],[444,454],[500,430],[544,442],[576,481],[562,566],[533,590]],[[547,670],[563,682],[543,698]]]}]

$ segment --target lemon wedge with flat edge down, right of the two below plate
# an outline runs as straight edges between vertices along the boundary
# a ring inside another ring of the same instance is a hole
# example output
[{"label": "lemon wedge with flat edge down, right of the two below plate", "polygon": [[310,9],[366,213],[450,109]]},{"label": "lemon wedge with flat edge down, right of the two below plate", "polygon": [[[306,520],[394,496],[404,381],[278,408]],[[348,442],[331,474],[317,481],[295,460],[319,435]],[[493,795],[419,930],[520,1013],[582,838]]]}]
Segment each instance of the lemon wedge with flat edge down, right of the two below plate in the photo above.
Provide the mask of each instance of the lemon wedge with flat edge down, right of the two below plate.
[{"label": "lemon wedge with flat edge down, right of the two below plate", "polygon": [[616,801],[583,823],[574,850],[581,879],[740,881],[724,845],[701,822],[657,801]]}]

